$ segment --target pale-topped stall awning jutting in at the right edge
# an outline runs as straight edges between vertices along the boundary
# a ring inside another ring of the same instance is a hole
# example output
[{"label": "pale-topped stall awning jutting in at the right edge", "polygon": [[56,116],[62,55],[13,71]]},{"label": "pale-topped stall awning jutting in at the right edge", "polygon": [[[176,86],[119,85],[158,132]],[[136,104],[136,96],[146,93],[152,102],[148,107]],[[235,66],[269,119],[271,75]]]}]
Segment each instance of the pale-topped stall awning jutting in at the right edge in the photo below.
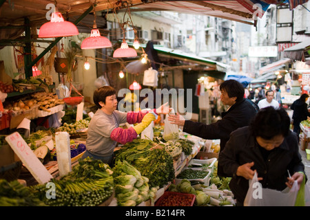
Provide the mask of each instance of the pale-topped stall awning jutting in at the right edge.
[{"label": "pale-topped stall awning jutting in at the right edge", "polygon": [[310,39],[298,43],[293,47],[284,50],[284,57],[291,58],[294,61],[306,61],[306,57],[310,54]]}]

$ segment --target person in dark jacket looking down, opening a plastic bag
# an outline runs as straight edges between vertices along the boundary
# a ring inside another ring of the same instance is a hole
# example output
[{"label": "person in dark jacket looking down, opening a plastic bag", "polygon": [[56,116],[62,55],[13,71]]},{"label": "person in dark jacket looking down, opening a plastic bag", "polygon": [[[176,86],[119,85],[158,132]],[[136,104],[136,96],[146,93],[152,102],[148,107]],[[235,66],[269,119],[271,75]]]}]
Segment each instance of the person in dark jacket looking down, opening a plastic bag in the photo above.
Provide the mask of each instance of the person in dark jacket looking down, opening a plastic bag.
[{"label": "person in dark jacket looking down, opening a plastic bag", "polygon": [[229,187],[237,206],[243,205],[255,171],[263,188],[284,190],[291,188],[295,180],[298,186],[302,183],[304,164],[296,133],[290,131],[289,125],[285,109],[266,107],[260,109],[249,126],[231,133],[218,165],[227,177],[232,177]]}]

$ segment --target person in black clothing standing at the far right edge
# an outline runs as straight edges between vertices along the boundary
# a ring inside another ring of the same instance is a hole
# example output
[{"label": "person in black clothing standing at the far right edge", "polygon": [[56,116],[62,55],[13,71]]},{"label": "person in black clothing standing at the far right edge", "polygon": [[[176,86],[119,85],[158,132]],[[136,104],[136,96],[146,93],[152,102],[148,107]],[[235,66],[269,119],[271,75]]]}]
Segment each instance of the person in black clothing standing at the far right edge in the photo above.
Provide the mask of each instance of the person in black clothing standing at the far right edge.
[{"label": "person in black clothing standing at the far right edge", "polygon": [[302,94],[298,100],[295,100],[293,104],[291,104],[291,109],[293,110],[293,132],[297,134],[298,142],[299,142],[299,133],[300,133],[300,122],[303,120],[307,120],[310,117],[310,113],[308,111],[308,104],[306,103],[309,98],[308,94]]}]

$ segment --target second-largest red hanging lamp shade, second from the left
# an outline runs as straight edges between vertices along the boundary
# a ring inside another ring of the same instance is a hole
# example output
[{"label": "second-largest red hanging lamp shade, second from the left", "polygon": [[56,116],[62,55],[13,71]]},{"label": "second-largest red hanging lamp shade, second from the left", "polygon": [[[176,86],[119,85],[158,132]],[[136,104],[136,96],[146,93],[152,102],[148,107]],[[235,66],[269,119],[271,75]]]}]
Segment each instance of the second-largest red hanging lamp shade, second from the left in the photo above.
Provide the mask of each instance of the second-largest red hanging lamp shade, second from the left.
[{"label": "second-largest red hanging lamp shade, second from the left", "polygon": [[101,36],[98,29],[93,29],[90,37],[87,37],[81,45],[82,49],[97,49],[105,47],[112,47],[112,43],[105,36]]}]

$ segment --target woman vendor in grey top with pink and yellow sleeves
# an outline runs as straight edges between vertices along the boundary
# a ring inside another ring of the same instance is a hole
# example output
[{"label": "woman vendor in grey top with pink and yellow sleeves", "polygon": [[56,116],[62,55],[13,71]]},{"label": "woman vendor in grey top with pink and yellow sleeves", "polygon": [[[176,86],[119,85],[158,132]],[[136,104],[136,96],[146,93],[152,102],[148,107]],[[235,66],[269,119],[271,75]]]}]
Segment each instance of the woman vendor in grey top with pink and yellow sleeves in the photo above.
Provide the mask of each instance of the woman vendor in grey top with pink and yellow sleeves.
[{"label": "woman vendor in grey top with pink and yellow sleeves", "polygon": [[[93,157],[113,166],[114,148],[117,142],[125,144],[136,137],[155,120],[156,113],[169,111],[167,103],[153,112],[139,111],[124,113],[116,110],[116,90],[110,86],[103,86],[94,91],[94,104],[99,108],[87,129],[86,149],[82,159]],[[167,113],[166,112],[166,113]],[[130,129],[122,129],[119,124],[128,122],[136,124]]]}]

